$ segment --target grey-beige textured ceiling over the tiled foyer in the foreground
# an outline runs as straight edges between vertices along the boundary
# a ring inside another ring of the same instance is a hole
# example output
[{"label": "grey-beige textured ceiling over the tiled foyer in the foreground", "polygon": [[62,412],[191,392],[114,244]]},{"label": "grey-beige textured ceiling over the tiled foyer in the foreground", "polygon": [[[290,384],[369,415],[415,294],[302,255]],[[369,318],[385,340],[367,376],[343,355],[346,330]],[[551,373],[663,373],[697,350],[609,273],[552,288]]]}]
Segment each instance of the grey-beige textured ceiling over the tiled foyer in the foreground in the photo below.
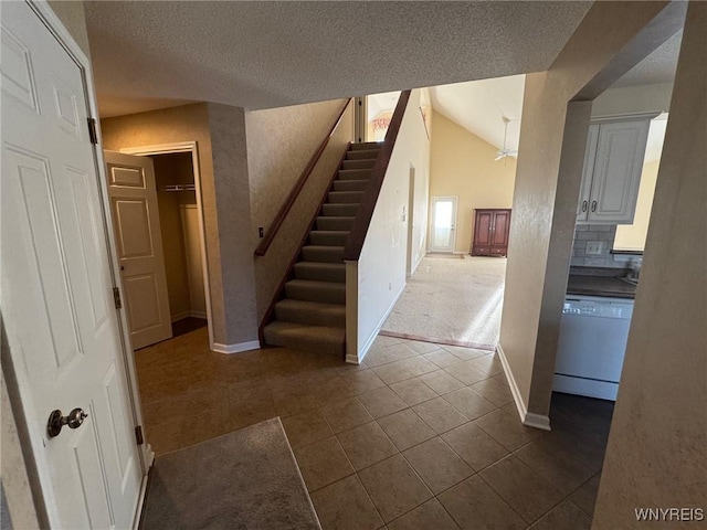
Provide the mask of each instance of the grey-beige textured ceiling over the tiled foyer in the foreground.
[{"label": "grey-beige textured ceiling over the tiled foyer in the foreground", "polygon": [[250,109],[546,70],[591,2],[86,2],[103,116]]}]

